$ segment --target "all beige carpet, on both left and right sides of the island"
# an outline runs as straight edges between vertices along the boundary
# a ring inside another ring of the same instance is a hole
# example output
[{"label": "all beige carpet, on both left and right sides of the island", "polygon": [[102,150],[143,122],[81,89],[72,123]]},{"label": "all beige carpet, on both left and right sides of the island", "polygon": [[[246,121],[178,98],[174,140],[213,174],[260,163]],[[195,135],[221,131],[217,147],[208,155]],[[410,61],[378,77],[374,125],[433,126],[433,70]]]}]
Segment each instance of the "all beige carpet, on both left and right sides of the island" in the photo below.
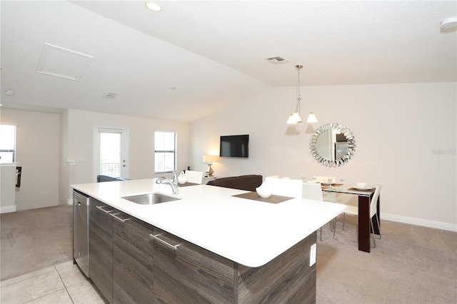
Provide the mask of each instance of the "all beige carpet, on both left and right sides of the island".
[{"label": "all beige carpet, on both left and right sides of the island", "polygon": [[[1,280],[71,260],[71,206],[4,213],[0,225]],[[316,303],[457,303],[457,233],[390,221],[381,230],[371,253],[340,222],[339,240],[318,241]]]}]

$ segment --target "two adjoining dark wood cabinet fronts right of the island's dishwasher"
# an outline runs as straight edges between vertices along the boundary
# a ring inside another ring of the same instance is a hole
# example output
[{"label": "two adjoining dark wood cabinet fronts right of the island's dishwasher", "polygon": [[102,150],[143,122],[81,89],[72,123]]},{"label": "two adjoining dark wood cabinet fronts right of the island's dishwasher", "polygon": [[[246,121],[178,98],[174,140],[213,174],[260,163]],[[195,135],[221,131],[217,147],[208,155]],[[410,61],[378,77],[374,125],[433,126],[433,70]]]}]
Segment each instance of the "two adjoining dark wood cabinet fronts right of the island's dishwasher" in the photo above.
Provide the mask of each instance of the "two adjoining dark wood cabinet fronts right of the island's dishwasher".
[{"label": "two adjoining dark wood cabinet fronts right of the island's dishwasher", "polygon": [[109,303],[151,303],[152,226],[91,198],[89,277]]}]

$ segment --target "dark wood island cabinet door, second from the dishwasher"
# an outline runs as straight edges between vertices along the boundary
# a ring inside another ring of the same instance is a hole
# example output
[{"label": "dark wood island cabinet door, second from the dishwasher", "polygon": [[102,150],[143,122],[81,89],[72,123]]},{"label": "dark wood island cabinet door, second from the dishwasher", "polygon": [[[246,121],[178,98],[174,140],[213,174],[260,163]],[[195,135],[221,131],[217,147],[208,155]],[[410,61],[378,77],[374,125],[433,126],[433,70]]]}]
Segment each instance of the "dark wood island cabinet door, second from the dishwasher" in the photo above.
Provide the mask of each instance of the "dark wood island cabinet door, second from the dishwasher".
[{"label": "dark wood island cabinet door, second from the dishwasher", "polygon": [[113,226],[113,303],[152,303],[152,226],[125,213],[114,214]]}]

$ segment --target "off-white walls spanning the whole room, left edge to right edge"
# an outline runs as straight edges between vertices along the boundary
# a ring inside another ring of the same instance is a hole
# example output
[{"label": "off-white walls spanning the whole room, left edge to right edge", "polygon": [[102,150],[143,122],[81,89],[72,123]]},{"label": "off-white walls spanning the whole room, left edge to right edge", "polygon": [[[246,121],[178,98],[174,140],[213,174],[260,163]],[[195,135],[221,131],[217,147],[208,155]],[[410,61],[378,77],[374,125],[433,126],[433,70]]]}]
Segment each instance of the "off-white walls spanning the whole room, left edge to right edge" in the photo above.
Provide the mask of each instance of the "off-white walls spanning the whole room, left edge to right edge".
[{"label": "off-white walls spanning the whole room, left edge to right edge", "polygon": [[[219,153],[219,136],[248,133],[249,158],[221,158],[213,164],[217,177],[344,174],[345,183],[384,184],[383,219],[457,230],[457,83],[303,86],[302,114],[314,111],[319,122],[298,128],[286,125],[295,93],[295,87],[272,88],[190,126],[79,110],[2,108],[1,121],[18,126],[23,176],[17,210],[68,203],[71,183],[93,182],[92,134],[94,126],[106,126],[129,129],[130,178],[154,176],[154,131],[178,132],[179,171],[206,170],[202,156]],[[309,153],[313,131],[327,122],[348,126],[356,137],[353,159],[340,168],[320,166]]]}]

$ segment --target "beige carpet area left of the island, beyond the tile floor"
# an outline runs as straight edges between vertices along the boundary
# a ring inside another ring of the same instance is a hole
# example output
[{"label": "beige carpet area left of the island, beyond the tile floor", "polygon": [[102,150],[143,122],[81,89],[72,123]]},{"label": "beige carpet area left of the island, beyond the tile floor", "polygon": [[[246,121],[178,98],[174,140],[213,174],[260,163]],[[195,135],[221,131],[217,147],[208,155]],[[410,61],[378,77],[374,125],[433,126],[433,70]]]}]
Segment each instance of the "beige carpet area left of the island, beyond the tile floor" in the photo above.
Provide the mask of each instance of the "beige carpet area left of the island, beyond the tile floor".
[{"label": "beige carpet area left of the island, beyond the tile floor", "polygon": [[71,260],[72,206],[0,215],[0,279],[24,275]]}]

